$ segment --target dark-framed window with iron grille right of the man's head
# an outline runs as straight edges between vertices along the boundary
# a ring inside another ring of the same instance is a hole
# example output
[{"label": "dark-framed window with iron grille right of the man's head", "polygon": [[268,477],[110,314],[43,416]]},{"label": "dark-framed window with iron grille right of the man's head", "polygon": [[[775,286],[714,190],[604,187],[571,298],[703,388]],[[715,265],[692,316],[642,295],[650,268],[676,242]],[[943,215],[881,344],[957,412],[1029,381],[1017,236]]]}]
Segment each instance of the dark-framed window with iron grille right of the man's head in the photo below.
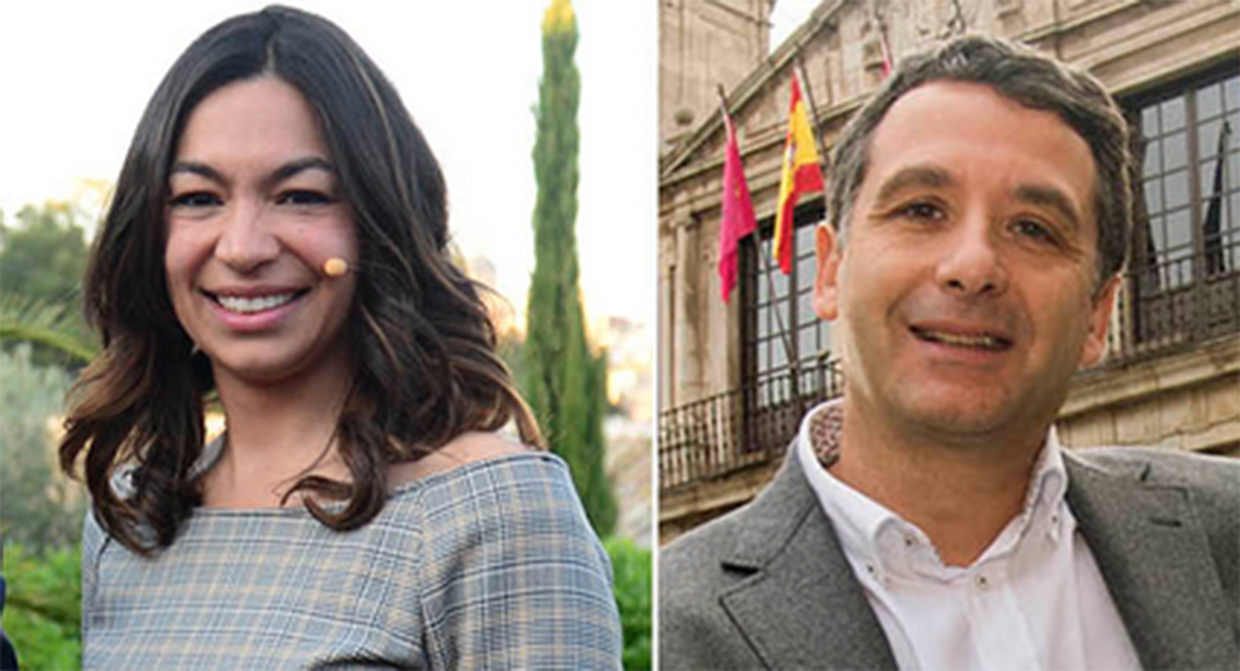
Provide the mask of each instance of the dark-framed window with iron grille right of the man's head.
[{"label": "dark-framed window with iron grille right of the man's head", "polygon": [[1240,72],[1127,105],[1136,156],[1130,290],[1137,345],[1240,330]]}]

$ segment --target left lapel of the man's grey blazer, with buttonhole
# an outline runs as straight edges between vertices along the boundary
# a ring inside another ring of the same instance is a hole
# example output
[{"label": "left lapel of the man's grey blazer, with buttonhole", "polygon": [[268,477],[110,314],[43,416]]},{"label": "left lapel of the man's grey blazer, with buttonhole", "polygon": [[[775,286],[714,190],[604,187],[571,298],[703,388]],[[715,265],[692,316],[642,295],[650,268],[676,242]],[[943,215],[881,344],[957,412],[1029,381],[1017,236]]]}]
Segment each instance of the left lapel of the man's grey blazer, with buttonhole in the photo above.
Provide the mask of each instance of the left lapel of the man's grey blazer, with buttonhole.
[{"label": "left lapel of the man's grey blazer, with buttonhole", "polygon": [[895,671],[870,610],[796,458],[745,510],[724,567],[749,573],[719,594],[770,669]]}]

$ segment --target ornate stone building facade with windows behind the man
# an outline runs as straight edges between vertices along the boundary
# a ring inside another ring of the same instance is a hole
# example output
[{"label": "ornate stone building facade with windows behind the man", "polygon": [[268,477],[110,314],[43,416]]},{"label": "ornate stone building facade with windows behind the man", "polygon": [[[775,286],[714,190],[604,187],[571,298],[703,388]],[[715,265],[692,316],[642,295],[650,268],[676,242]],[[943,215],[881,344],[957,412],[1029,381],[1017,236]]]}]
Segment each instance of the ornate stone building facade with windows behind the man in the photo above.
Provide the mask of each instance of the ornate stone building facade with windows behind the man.
[{"label": "ornate stone building facade with windows behind the man", "polygon": [[[661,11],[718,4],[675,0]],[[898,60],[961,31],[1018,40],[1090,71],[1135,129],[1140,203],[1110,351],[1078,376],[1060,437],[1080,448],[1240,455],[1240,1],[827,0],[746,74],[720,81],[760,228],[742,244],[729,304],[715,272],[724,146],[715,84],[676,84],[708,89],[693,99],[713,103],[682,125],[668,107],[689,97],[667,98],[671,84],[660,84],[671,124],[661,124],[658,216],[665,541],[750,499],[804,409],[839,392],[830,327],[810,305],[821,197],[797,210],[792,274],[764,260],[791,73],[802,73],[830,151],[880,83],[884,42]]]}]

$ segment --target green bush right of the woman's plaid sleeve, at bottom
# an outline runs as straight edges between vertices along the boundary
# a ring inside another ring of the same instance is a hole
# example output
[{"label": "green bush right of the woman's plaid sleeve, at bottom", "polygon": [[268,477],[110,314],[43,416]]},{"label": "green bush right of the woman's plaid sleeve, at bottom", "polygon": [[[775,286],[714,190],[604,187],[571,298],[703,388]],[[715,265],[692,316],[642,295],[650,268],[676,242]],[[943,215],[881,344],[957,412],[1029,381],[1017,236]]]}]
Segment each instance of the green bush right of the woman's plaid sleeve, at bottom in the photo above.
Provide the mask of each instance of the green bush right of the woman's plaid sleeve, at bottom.
[{"label": "green bush right of the woman's plaid sleeve, at bottom", "polygon": [[616,604],[624,629],[624,667],[626,671],[650,669],[651,562],[650,549],[625,538],[604,543],[611,556]]}]

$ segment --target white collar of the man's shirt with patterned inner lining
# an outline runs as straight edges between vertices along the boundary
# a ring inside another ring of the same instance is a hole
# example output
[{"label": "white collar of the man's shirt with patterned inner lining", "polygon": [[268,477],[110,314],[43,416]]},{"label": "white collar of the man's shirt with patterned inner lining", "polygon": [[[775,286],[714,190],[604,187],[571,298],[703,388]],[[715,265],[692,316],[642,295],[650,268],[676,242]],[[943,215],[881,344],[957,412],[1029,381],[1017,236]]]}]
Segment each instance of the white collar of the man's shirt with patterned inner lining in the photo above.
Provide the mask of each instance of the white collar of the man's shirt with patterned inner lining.
[{"label": "white collar of the man's shirt with patterned inner lining", "polygon": [[[830,466],[838,458],[842,424],[842,399],[815,407],[801,420],[794,449],[810,487],[835,526],[844,554],[854,568],[864,568],[872,574],[884,569],[898,571],[919,558],[932,557],[937,561],[929,537],[921,530],[844,484],[823,465]],[[1060,517],[1066,513],[1063,505],[1066,491],[1068,470],[1059,438],[1052,425],[1038,455],[1021,513],[978,561],[1013,551],[1030,528],[1045,530],[1053,541],[1058,541],[1063,528]]]}]

